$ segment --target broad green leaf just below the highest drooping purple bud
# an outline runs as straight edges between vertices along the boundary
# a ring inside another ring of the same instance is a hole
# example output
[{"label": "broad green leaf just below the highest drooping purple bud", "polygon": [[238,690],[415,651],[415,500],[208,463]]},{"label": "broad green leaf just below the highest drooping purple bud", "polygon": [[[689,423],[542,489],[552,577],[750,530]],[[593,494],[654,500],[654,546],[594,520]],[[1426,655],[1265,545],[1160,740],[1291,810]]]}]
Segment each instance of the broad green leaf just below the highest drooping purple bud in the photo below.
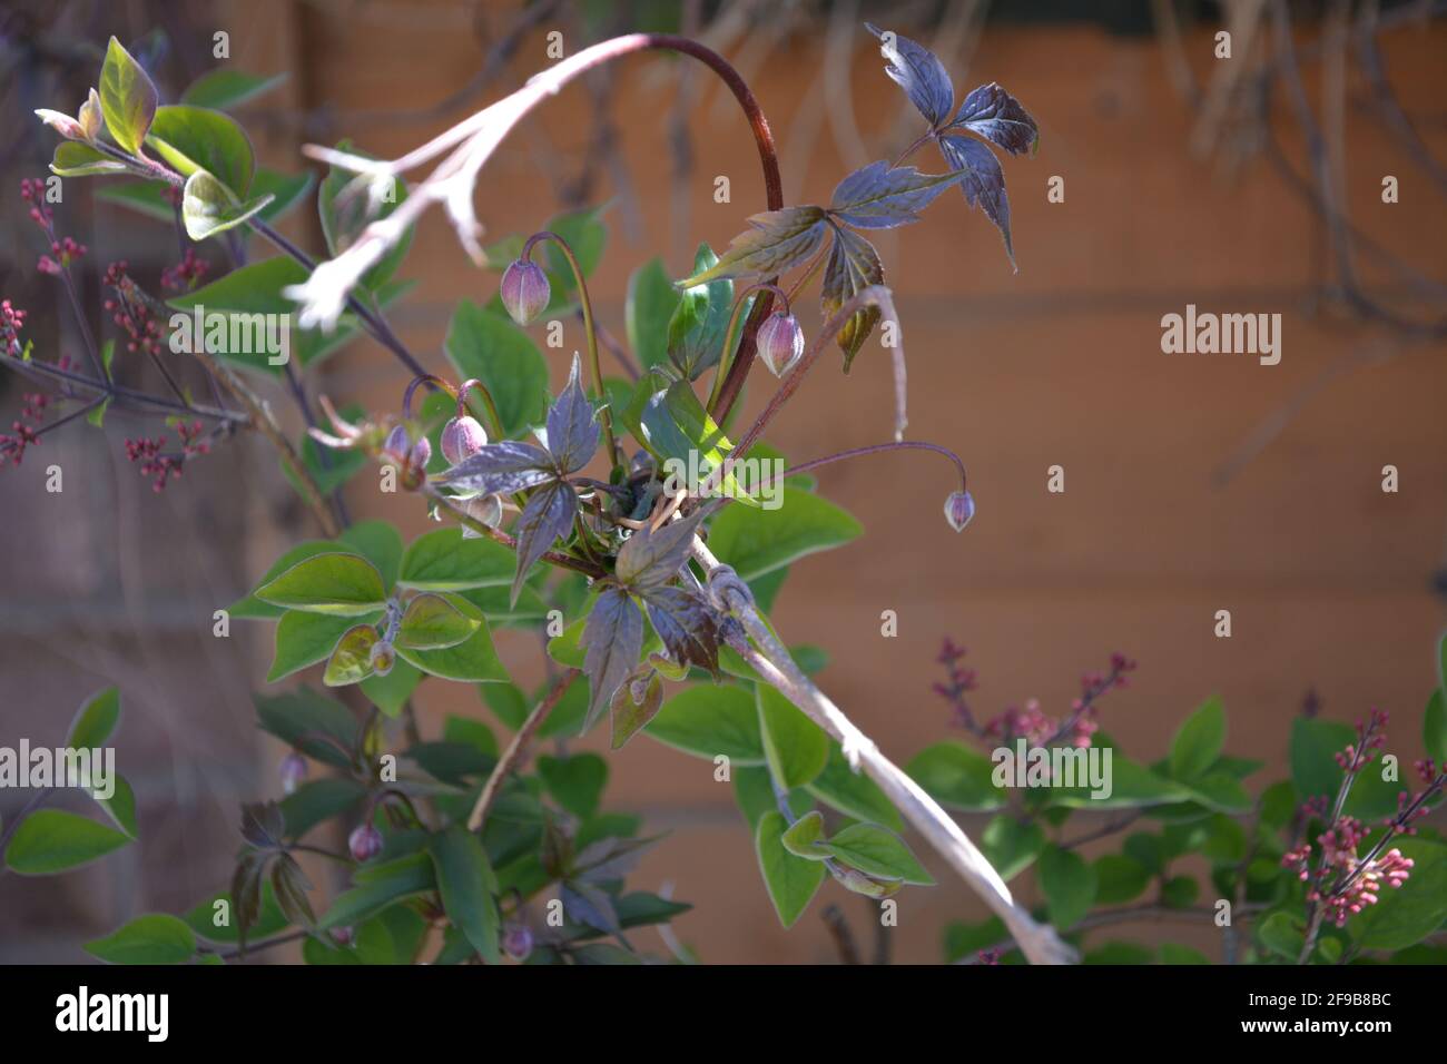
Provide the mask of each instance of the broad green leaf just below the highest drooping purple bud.
[{"label": "broad green leaf just below the highest drooping purple bud", "polygon": [[[447,327],[446,347],[460,378],[478,378],[488,388],[506,436],[518,437],[543,424],[548,402],[547,360],[512,318],[462,300]],[[482,410],[480,402],[475,405]],[[486,417],[482,424],[493,431]]]}]

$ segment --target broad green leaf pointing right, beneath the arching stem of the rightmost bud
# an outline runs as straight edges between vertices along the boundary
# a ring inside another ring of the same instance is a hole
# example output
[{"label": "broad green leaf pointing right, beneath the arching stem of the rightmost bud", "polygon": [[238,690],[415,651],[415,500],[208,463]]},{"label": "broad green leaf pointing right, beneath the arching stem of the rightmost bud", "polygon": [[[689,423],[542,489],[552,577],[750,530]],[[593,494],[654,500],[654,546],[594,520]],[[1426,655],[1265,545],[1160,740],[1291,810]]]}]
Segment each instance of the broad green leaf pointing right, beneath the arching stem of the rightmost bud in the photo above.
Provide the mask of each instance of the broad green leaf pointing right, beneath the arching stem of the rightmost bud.
[{"label": "broad green leaf pointing right, beneath the arching stem of the rightmost bud", "polygon": [[725,507],[713,520],[709,549],[741,578],[752,580],[806,554],[858,537],[862,525],[832,502],[784,488],[777,510]]}]

